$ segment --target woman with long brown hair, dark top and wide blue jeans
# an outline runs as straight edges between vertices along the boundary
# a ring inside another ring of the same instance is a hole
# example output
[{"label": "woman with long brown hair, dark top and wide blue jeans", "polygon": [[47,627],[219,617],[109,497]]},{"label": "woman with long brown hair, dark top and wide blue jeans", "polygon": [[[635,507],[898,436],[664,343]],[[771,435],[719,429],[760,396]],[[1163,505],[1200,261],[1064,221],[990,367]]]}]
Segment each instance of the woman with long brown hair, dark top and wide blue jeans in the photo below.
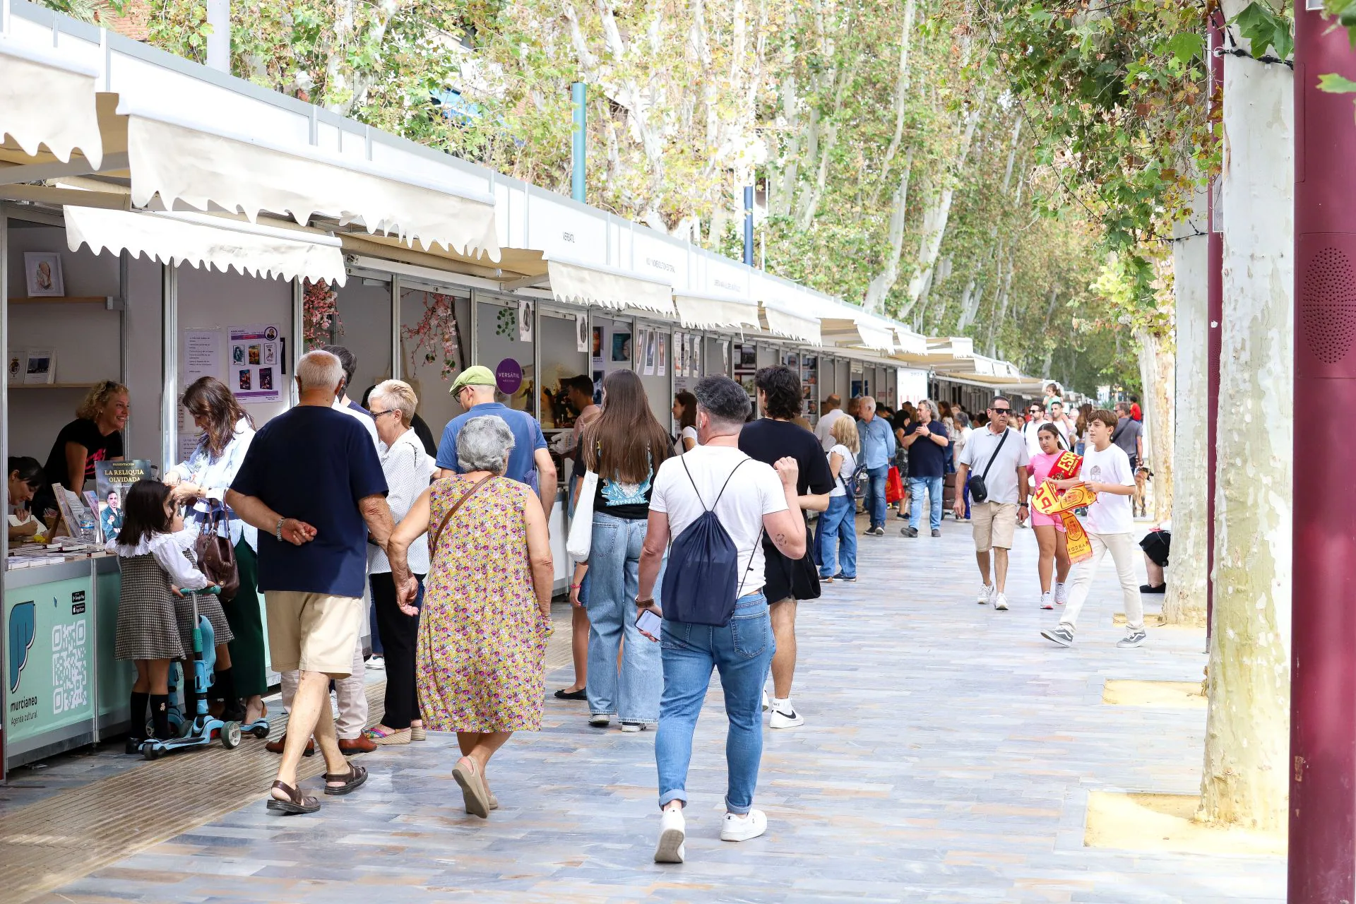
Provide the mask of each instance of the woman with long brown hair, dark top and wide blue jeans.
[{"label": "woman with long brown hair, dark top and wide blue jeans", "polygon": [[636,629],[633,600],[640,590],[651,485],[673,451],[673,439],[650,411],[640,377],[629,370],[607,374],[602,415],[584,428],[576,462],[576,468],[582,464],[598,474],[589,595],[583,600],[590,623],[589,724],[598,728],[614,714],[624,732],[659,721],[663,664],[659,645]]}]

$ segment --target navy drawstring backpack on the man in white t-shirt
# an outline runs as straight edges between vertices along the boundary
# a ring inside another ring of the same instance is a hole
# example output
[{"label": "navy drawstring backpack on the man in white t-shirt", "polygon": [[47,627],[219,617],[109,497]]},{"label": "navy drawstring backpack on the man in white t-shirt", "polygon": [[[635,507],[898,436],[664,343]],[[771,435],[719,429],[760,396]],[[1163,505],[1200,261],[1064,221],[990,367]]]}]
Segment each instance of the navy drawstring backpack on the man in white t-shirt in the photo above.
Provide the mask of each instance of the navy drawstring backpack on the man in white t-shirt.
[{"label": "navy drawstring backpack on the man in white t-shirt", "polygon": [[[744,458],[730,472],[730,477],[725,477],[725,482],[711,508],[706,508],[706,503],[702,501],[697,481],[692,480],[686,455],[679,457],[678,461],[682,462],[687,480],[692,481],[702,514],[683,527],[669,548],[669,564],[664,567],[664,580],[660,588],[664,618],[687,625],[724,628],[734,617],[735,600],[739,598],[739,548],[730,538],[725,526],[716,518],[715,510],[725,487],[730,485],[730,478],[749,458]],[[762,542],[761,531],[758,542]],[[753,568],[753,557],[750,557],[749,567]]]}]

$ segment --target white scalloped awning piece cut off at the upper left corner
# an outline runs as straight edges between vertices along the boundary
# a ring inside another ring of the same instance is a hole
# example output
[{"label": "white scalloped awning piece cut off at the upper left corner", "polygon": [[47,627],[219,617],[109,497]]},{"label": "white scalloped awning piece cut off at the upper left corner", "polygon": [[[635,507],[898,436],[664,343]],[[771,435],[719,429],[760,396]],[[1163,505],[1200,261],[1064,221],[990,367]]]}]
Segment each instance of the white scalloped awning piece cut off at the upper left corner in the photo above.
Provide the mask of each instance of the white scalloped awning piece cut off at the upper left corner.
[{"label": "white scalloped awning piece cut off at the upper left corner", "polygon": [[98,73],[0,38],[0,140],[12,137],[28,156],[38,145],[61,163],[79,149],[98,169],[103,136],[95,108]]}]

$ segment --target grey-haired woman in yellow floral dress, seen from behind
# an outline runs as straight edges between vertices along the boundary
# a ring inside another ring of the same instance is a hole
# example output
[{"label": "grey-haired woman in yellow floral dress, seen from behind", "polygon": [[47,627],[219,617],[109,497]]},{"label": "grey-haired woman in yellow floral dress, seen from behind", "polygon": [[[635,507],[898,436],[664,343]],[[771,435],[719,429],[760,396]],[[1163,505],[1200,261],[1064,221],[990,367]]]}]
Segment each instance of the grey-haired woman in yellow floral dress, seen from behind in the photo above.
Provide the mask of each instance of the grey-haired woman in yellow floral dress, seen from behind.
[{"label": "grey-haired woman in yellow floral dress, seen from behind", "polygon": [[541,728],[552,561],[546,516],[526,484],[503,477],[514,439],[492,415],[457,436],[460,474],[426,489],[391,538],[405,614],[418,590],[405,550],[428,534],[428,577],[416,648],[419,707],[428,731],[457,732],[453,778],[466,812],[499,805],[490,758],[515,731]]}]

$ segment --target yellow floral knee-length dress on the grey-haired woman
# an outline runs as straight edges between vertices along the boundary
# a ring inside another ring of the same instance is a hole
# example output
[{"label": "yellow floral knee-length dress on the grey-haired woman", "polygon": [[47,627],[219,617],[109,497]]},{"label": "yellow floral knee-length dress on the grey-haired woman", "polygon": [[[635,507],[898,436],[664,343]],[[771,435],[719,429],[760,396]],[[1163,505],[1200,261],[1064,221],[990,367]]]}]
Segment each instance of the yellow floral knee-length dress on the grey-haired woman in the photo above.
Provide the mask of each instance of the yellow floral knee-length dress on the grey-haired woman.
[{"label": "yellow floral knee-length dress on the grey-haired woman", "polygon": [[541,728],[549,619],[532,588],[526,484],[491,477],[452,516],[475,480],[434,481],[428,558],[419,614],[419,707],[439,732],[534,732]]}]

